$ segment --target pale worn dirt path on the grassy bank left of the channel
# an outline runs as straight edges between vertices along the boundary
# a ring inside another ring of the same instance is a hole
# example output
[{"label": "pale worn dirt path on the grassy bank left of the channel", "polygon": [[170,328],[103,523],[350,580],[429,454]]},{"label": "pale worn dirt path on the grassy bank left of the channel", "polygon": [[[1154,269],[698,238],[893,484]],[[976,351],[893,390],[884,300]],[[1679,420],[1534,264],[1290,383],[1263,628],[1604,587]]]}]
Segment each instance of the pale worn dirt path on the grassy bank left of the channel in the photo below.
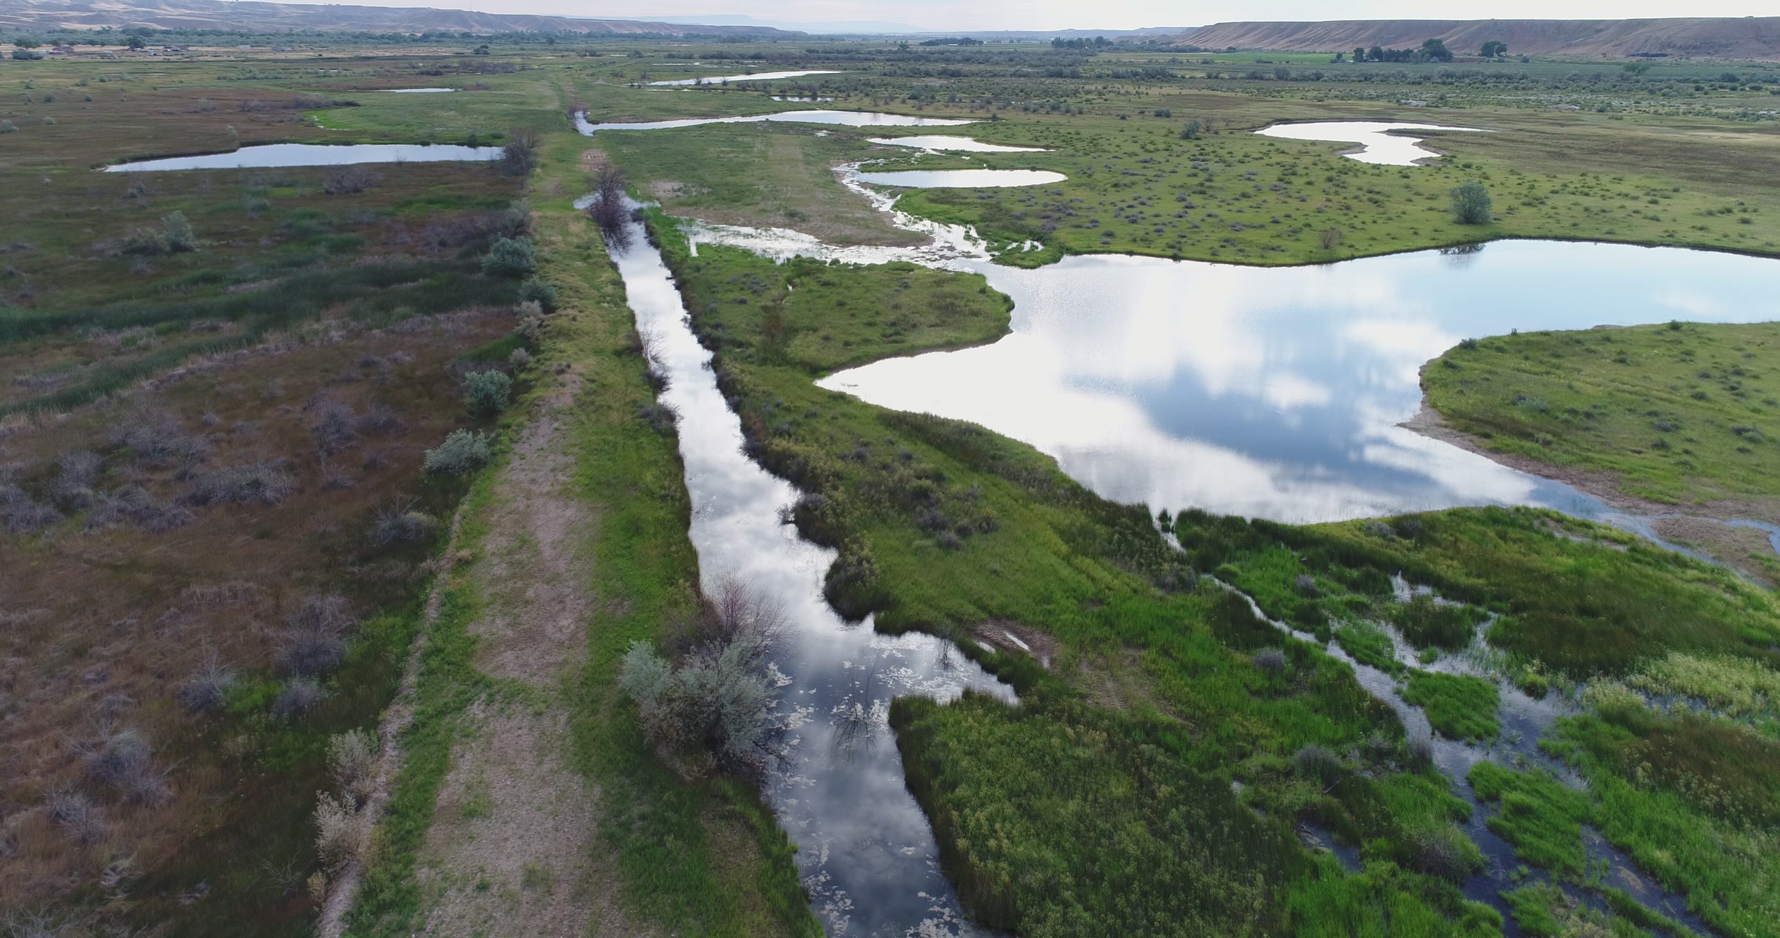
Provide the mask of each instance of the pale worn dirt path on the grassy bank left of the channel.
[{"label": "pale worn dirt path on the grassy bank left of the channel", "polygon": [[477,667],[518,687],[465,716],[415,867],[424,934],[646,934],[596,860],[598,788],[570,758],[566,694],[587,648],[598,518],[566,489],[562,376],[495,481],[470,573]]}]

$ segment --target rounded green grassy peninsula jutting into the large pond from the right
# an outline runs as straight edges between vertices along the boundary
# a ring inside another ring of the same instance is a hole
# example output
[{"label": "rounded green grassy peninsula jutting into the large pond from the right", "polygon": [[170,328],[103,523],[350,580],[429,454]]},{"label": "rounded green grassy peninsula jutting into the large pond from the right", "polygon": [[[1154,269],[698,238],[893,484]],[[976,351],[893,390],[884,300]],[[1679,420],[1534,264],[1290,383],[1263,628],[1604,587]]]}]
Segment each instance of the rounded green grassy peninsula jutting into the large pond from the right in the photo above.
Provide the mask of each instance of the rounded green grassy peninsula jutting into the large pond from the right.
[{"label": "rounded green grassy peninsula jutting into the large pond from the right", "polygon": [[1775,520],[1780,324],[1520,333],[1447,349],[1429,404],[1497,452],[1609,473],[1666,504]]}]

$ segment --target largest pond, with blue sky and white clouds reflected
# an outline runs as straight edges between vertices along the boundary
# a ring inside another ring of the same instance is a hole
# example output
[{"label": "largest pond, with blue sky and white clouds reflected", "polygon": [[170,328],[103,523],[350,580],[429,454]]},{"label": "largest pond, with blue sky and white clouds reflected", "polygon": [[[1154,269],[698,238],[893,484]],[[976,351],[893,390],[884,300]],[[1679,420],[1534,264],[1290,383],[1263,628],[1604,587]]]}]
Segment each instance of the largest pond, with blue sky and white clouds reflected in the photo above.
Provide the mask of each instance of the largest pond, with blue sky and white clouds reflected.
[{"label": "largest pond, with blue sky and white clouds reflected", "polygon": [[1568,486],[1399,427],[1420,409],[1419,368],[1511,329],[1780,319],[1773,260],[1613,244],[1285,269],[956,265],[1015,299],[1011,335],[821,384],[1024,440],[1107,498],[1294,523],[1479,504],[1602,516]]}]

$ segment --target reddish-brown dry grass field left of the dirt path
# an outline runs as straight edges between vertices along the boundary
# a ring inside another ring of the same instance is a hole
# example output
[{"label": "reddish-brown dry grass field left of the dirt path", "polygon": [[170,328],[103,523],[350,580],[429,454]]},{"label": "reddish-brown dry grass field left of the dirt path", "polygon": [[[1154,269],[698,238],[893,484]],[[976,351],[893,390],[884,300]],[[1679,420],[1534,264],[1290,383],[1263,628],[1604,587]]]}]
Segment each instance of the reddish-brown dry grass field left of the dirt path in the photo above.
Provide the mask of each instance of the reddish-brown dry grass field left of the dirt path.
[{"label": "reddish-brown dry grass field left of the dirt path", "polygon": [[[151,874],[157,899],[176,902],[201,879],[174,872],[206,853],[198,845],[219,829],[253,826],[263,810],[256,801],[283,796],[281,780],[255,769],[265,739],[239,717],[192,712],[176,698],[212,660],[244,676],[271,673],[278,632],[310,594],[342,591],[361,611],[411,594],[420,575],[413,550],[368,550],[370,518],[379,504],[417,489],[424,445],[461,420],[450,360],[511,326],[502,311],[386,331],[342,324],[308,344],[196,363],[128,400],[14,424],[0,459],[27,481],[48,477],[62,454],[89,449],[105,456],[101,488],[128,482],[169,502],[194,472],[260,461],[285,466],[294,488],[278,504],[194,507],[190,523],[158,534],[135,525],[85,530],[69,520],[44,534],[0,538],[0,815],[12,844],[0,908],[87,892],[116,856],[132,856]],[[400,415],[397,433],[335,449],[331,459],[354,466],[349,488],[320,484],[312,418],[319,399],[358,415]],[[117,422],[141,425],[148,413],[201,436],[203,459],[137,461],[107,445]],[[372,449],[381,456],[365,466]],[[96,762],[109,762],[94,753],[125,726],[139,733],[150,765],[125,758],[96,772]],[[137,785],[148,771],[166,772],[155,776],[164,792]],[[119,772],[125,778],[110,778]],[[301,796],[312,799],[313,787]],[[80,806],[80,817],[59,821],[52,803]]]}]

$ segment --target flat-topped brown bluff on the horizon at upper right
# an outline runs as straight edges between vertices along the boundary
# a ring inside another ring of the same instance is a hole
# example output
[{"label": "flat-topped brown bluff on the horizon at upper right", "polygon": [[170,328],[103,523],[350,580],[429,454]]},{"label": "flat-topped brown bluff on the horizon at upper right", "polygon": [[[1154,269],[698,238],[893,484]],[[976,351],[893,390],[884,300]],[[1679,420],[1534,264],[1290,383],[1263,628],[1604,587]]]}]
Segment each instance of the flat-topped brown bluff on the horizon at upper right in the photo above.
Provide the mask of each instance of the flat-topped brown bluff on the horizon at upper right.
[{"label": "flat-topped brown bluff on the horizon at upper right", "polygon": [[1408,48],[1444,39],[1474,53],[1492,39],[1513,55],[1702,55],[1780,59],[1780,16],[1675,20],[1335,20],[1326,23],[1214,23],[1175,34],[1182,46],[1267,52]]}]

